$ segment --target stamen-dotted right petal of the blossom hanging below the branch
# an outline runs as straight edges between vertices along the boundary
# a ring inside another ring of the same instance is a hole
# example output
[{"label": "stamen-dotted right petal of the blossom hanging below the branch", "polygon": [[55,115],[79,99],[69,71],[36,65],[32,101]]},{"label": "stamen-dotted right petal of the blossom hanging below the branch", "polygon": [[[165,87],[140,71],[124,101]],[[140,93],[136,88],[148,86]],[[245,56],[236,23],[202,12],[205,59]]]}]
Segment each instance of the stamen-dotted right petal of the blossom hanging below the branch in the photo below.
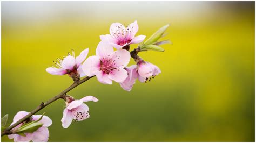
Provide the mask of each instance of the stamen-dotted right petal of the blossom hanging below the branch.
[{"label": "stamen-dotted right petal of the blossom hanging below the branch", "polygon": [[90,117],[88,111],[89,107],[83,103],[82,105],[72,110],[72,117],[77,121],[85,120]]}]

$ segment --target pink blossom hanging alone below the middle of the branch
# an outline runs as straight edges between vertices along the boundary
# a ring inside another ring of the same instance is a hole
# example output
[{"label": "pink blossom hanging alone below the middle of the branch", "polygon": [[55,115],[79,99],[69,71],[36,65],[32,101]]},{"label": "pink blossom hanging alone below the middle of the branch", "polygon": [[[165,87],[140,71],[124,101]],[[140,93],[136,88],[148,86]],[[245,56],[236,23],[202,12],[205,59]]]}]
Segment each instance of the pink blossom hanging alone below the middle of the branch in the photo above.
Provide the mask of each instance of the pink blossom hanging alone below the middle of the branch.
[{"label": "pink blossom hanging alone below the middle of the branch", "polygon": [[93,96],[86,96],[80,100],[75,100],[72,97],[68,97],[66,99],[66,108],[63,111],[62,117],[62,126],[64,128],[68,128],[72,122],[72,120],[80,121],[85,120],[90,117],[89,115],[89,107],[84,104],[84,102],[94,101],[97,102],[98,99]]}]

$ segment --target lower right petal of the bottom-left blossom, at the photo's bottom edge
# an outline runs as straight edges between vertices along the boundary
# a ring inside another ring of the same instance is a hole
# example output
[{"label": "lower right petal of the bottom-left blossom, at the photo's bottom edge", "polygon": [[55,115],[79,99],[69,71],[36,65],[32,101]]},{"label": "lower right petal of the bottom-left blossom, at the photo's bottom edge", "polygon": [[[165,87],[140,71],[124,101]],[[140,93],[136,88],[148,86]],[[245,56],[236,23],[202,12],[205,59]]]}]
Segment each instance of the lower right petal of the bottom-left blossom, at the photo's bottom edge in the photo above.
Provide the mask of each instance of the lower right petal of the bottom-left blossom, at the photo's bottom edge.
[{"label": "lower right petal of the bottom-left blossom, at the photo's bottom edge", "polygon": [[38,130],[32,133],[33,142],[46,142],[49,138],[49,130],[47,127],[40,127]]}]

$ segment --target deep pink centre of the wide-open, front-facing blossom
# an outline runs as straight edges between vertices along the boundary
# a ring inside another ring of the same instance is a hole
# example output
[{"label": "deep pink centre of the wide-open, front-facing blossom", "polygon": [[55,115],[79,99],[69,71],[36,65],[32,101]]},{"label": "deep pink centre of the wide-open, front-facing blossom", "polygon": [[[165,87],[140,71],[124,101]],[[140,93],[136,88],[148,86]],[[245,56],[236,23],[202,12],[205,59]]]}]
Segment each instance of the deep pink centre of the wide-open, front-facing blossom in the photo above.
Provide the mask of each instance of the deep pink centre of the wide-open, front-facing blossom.
[{"label": "deep pink centre of the wide-open, front-facing blossom", "polygon": [[116,69],[116,61],[109,58],[100,59],[100,70],[104,73],[109,74],[113,69]]}]

